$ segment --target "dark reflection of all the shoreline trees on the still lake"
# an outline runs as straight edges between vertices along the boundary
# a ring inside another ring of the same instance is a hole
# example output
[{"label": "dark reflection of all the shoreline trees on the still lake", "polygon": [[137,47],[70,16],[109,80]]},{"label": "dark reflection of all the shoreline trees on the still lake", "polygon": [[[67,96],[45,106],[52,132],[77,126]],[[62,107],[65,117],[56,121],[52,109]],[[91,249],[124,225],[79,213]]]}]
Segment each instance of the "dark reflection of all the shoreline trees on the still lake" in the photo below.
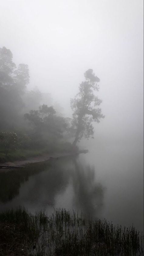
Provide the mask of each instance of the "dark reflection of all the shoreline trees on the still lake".
[{"label": "dark reflection of all the shoreline trees on the still lake", "polygon": [[31,207],[49,210],[69,205],[71,209],[96,216],[102,208],[103,196],[104,188],[96,181],[94,167],[81,163],[77,157],[29,164],[26,169],[0,173],[3,209],[24,205],[29,210]]}]

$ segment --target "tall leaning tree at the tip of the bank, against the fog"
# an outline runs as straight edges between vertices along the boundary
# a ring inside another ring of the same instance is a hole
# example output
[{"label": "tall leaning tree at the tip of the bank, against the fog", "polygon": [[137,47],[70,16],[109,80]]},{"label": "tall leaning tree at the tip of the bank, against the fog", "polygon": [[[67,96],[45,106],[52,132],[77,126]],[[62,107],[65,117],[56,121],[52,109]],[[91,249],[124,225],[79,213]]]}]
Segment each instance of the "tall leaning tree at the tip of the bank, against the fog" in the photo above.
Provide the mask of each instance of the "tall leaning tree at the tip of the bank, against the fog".
[{"label": "tall leaning tree at the tip of the bank, against the fog", "polygon": [[71,108],[74,111],[72,127],[75,131],[75,139],[73,146],[83,137],[94,138],[92,122],[99,123],[100,119],[104,118],[104,115],[101,114],[101,108],[98,107],[102,100],[94,95],[94,91],[99,90],[97,83],[100,82],[100,79],[95,76],[93,69],[88,69],[84,73],[84,77],[85,81],[81,82],[79,93],[70,100]]}]

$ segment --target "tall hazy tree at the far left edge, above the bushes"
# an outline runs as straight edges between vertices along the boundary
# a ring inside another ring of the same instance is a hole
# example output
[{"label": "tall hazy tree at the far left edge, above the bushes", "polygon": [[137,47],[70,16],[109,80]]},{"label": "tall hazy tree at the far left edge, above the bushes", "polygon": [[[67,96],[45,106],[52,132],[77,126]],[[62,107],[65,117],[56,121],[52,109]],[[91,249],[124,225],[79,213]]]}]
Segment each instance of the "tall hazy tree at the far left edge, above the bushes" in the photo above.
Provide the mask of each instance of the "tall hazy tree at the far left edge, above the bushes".
[{"label": "tall hazy tree at the far left edge, above the bushes", "polygon": [[0,130],[13,130],[18,123],[28,83],[28,66],[19,64],[16,68],[11,51],[0,48]]}]

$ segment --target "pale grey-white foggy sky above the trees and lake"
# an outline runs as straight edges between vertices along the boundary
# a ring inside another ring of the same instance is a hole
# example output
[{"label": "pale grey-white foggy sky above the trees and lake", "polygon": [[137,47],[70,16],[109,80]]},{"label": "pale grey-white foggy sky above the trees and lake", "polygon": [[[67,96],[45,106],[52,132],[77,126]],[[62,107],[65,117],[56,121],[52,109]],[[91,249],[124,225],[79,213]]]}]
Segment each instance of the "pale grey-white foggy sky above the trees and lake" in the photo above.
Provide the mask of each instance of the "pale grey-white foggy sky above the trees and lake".
[{"label": "pale grey-white foggy sky above the trees and lake", "polygon": [[97,131],[142,134],[143,0],[1,0],[3,46],[29,65],[28,89],[51,93],[66,116],[92,68],[106,115]]}]

